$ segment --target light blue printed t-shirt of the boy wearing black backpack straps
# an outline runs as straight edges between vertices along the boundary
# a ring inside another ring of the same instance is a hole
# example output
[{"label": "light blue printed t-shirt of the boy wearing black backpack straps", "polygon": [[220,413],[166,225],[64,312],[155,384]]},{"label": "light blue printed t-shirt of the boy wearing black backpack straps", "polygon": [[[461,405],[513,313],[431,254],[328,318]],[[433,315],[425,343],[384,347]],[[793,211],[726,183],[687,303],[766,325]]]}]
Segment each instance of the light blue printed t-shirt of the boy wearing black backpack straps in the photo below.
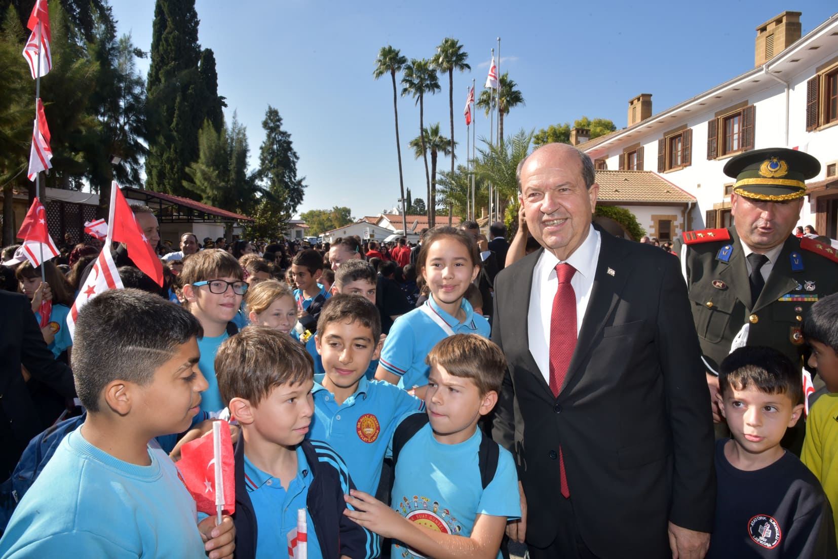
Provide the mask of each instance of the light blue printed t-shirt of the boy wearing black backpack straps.
[{"label": "light blue printed t-shirt of the boy wearing black backpack straps", "polygon": [[[428,423],[399,452],[391,507],[407,520],[443,534],[471,536],[478,514],[520,518],[518,474],[512,454],[499,448],[494,479],[483,488],[478,450],[483,432],[459,444],[442,444]],[[391,557],[421,559],[422,555],[393,541]],[[498,558],[501,554],[498,553]]]}]

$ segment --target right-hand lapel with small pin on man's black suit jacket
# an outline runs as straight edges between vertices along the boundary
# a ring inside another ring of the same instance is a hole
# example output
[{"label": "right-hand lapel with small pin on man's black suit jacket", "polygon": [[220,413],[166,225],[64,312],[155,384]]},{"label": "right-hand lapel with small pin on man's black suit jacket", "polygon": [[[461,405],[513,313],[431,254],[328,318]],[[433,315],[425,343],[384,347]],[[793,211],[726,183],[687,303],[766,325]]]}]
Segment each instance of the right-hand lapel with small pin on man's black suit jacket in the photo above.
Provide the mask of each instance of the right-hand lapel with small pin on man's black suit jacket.
[{"label": "right-hand lapel with small pin on man's black suit jacket", "polygon": [[[599,229],[597,228],[597,230]],[[572,376],[578,374],[580,365],[593,349],[593,341],[604,328],[605,322],[613,311],[614,305],[619,301],[620,294],[623,292],[623,287],[631,273],[628,267],[620,266],[625,253],[618,251],[616,237],[603,230],[599,230],[599,236],[599,258],[597,260],[597,271],[593,277],[591,297],[587,302],[585,317],[582,318],[582,329],[579,330],[577,336],[576,349],[573,350],[571,364],[567,368],[567,375],[565,375],[565,380],[561,385],[562,390],[565,386],[568,386]],[[609,269],[613,270],[613,275],[608,273]]]}]

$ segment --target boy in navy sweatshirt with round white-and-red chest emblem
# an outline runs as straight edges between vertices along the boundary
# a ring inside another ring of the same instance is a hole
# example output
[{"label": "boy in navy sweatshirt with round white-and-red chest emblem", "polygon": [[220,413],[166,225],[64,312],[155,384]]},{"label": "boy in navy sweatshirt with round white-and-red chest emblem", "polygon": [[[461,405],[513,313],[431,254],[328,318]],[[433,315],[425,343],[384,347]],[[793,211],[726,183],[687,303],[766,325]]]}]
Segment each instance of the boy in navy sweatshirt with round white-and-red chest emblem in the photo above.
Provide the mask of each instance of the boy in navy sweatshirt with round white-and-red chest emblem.
[{"label": "boy in navy sweatshirt with round white-and-red chest emblem", "polygon": [[719,368],[730,439],[716,441],[716,520],[707,557],[835,557],[818,479],[780,439],[803,413],[800,375],[777,349],[745,346]]}]

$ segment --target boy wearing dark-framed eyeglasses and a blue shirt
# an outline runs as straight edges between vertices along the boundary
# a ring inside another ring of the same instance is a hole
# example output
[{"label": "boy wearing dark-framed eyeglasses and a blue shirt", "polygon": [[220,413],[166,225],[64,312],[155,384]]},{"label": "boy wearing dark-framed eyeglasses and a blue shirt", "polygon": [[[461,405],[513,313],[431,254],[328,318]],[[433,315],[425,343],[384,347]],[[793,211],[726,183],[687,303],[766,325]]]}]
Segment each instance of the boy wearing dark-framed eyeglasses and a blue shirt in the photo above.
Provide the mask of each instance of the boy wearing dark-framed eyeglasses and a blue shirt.
[{"label": "boy wearing dark-framed eyeglasses and a blue shirt", "polygon": [[198,366],[209,387],[201,395],[201,411],[220,411],[225,405],[215,380],[215,353],[230,334],[238,331],[231,321],[247,292],[247,283],[239,261],[225,251],[200,251],[189,256],[180,279],[184,304],[204,329],[204,336],[198,339]]}]

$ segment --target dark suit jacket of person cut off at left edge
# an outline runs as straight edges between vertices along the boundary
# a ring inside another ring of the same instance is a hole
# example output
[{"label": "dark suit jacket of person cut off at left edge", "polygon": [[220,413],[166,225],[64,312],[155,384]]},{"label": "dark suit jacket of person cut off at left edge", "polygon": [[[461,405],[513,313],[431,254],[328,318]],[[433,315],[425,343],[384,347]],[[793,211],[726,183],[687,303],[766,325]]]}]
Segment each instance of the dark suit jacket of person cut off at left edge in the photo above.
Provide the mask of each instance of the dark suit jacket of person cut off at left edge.
[{"label": "dark suit jacket of person cut off at left edge", "polygon": [[28,299],[0,291],[0,309],[0,478],[6,479],[29,440],[49,427],[39,418],[20,365],[66,398],[75,396],[75,386],[70,367],[47,349]]}]

